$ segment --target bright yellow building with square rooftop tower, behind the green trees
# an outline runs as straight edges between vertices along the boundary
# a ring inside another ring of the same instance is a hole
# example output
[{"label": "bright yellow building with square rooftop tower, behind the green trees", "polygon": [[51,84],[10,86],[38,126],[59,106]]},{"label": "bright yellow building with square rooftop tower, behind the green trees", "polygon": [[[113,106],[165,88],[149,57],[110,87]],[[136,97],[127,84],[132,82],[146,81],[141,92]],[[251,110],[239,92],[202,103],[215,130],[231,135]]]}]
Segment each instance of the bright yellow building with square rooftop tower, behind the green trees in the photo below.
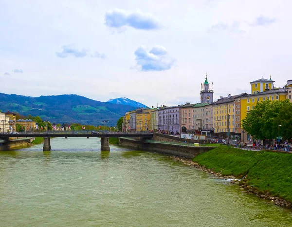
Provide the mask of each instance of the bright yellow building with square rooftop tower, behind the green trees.
[{"label": "bright yellow building with square rooftop tower, behind the green trees", "polygon": [[[251,84],[251,95],[245,95],[241,98],[240,119],[241,121],[246,117],[249,111],[253,110],[257,102],[266,100],[281,101],[288,98],[288,91],[284,88],[274,88],[274,81],[271,79],[258,79]],[[241,126],[241,124],[240,124]],[[242,133],[241,136],[245,137],[246,141],[249,135]]]}]

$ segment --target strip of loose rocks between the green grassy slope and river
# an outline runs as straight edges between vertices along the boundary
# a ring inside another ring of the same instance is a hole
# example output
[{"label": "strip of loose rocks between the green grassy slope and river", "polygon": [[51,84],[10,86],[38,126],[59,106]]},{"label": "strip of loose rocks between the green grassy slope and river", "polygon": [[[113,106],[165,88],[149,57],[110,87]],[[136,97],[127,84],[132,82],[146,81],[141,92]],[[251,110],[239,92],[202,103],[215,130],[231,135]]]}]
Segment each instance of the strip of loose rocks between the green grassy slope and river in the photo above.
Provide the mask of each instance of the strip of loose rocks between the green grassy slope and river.
[{"label": "strip of loose rocks between the green grassy slope and river", "polygon": [[276,206],[284,207],[284,208],[292,208],[292,203],[287,202],[285,199],[282,199],[280,197],[274,197],[271,196],[270,192],[263,192],[259,190],[258,188],[251,187],[248,185],[248,180],[246,179],[236,179],[234,176],[224,176],[221,174],[221,172],[215,172],[212,169],[207,169],[204,166],[200,166],[199,163],[193,162],[192,160],[185,159],[182,157],[176,157],[176,156],[170,156],[175,160],[181,161],[186,165],[193,166],[199,170],[202,170],[204,172],[208,172],[214,176],[216,176],[219,179],[224,179],[224,180],[230,180],[231,184],[238,184],[240,190],[244,190],[248,194],[255,194],[257,197],[269,200],[271,203],[274,203]]}]

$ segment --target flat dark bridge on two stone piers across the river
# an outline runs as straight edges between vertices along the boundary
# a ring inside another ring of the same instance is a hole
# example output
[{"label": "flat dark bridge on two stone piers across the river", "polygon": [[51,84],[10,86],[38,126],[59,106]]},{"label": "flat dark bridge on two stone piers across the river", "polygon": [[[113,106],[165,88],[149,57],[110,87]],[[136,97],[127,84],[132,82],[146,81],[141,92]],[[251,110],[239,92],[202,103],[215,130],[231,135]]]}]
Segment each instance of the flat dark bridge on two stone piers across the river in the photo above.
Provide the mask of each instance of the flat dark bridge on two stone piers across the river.
[{"label": "flat dark bridge on two stone piers across the river", "polygon": [[55,132],[44,132],[44,133],[18,133],[18,134],[0,134],[0,140],[8,140],[10,137],[43,137],[43,151],[51,151],[51,137],[100,137],[102,151],[110,151],[110,137],[141,137],[141,138],[152,138],[153,133],[147,132],[135,132],[135,133],[118,133],[118,132],[105,132],[105,133],[55,133]]}]

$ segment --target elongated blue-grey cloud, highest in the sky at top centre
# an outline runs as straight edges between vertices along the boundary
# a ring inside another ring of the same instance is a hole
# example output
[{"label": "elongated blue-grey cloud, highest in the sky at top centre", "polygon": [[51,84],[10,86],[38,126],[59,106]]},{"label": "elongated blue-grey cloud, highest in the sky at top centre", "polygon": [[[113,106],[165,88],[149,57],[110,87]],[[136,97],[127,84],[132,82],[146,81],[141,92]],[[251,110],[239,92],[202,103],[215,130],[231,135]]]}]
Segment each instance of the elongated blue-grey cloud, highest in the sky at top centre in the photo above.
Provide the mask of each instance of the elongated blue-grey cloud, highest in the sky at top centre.
[{"label": "elongated blue-grey cloud, highest in the sky at top centre", "polygon": [[121,28],[129,26],[141,30],[159,29],[159,23],[150,15],[141,11],[127,13],[121,9],[115,9],[106,13],[106,25],[111,28]]}]

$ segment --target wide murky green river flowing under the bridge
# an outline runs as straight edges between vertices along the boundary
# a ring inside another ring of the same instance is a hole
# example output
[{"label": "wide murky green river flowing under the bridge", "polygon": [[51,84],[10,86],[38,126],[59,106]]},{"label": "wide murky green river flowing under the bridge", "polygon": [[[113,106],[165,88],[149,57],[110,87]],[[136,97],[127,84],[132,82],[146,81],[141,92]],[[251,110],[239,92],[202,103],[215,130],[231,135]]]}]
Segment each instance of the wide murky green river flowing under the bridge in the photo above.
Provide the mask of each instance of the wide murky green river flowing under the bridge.
[{"label": "wide murky green river flowing under the bridge", "polygon": [[292,226],[291,210],[237,185],[99,138],[0,152],[0,226]]}]

